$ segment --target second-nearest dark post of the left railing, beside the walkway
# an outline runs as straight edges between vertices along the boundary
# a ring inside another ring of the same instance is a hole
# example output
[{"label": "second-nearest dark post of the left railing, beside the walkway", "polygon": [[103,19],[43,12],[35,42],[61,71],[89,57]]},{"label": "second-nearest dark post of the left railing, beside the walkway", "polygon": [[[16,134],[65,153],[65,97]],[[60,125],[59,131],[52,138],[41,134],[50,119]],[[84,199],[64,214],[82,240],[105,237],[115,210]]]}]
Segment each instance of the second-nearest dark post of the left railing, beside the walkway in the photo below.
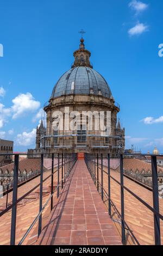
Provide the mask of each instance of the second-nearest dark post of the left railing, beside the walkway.
[{"label": "second-nearest dark post of the left railing, beside the walkway", "polygon": [[[43,186],[43,154],[41,154],[41,170],[40,170],[40,208],[39,212],[42,211],[42,186]],[[39,229],[38,236],[41,234],[42,230],[42,214],[39,217]]]}]

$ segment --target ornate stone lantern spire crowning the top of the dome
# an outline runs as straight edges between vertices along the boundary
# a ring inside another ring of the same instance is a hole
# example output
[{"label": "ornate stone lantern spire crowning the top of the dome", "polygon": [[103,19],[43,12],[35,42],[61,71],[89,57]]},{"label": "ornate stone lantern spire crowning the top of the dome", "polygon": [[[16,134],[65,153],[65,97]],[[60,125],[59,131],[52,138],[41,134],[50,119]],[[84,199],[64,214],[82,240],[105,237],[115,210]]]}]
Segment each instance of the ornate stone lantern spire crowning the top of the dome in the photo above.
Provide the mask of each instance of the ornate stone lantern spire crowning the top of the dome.
[{"label": "ornate stone lantern spire crowning the top of the dome", "polygon": [[72,68],[75,66],[89,66],[90,68],[93,68],[90,64],[91,53],[85,49],[83,37],[80,39],[79,49],[73,53],[73,56],[75,60]]}]

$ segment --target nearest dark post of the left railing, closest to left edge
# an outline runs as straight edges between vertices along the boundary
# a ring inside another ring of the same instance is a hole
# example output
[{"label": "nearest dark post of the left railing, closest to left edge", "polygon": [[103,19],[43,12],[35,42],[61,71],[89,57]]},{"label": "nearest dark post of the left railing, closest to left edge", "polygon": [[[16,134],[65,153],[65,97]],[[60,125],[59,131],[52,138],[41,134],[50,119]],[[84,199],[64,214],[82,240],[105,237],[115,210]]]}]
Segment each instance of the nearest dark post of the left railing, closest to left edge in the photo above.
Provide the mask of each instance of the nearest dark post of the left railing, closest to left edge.
[{"label": "nearest dark post of the left railing, closest to left edge", "polygon": [[[13,192],[12,192],[12,204],[15,203],[16,200],[17,200],[18,159],[19,159],[19,155],[15,155],[15,160],[14,160],[14,186],[13,186]],[[10,245],[15,245],[16,209],[17,209],[17,204],[12,206]]]}]

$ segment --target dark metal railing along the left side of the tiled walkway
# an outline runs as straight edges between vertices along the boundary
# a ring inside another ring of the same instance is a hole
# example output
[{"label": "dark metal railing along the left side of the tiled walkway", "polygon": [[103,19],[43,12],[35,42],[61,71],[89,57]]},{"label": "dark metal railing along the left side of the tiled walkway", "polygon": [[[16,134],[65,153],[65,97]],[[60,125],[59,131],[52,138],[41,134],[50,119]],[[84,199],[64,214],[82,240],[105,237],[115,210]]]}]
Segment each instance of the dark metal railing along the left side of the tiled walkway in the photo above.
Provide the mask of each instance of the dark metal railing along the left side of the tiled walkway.
[{"label": "dark metal railing along the left side of the tiled walkway", "polygon": [[[21,154],[22,155],[22,154]],[[24,154],[25,155],[25,154]],[[34,227],[35,223],[39,221],[38,224],[38,237],[41,234],[42,231],[42,212],[45,210],[47,204],[49,201],[51,201],[51,211],[53,209],[53,196],[54,193],[57,192],[57,198],[60,195],[60,187],[61,190],[64,186],[64,183],[68,179],[68,176],[71,173],[71,170],[74,166],[74,164],[77,161],[77,154],[57,154],[58,163],[54,164],[54,154],[51,154],[51,160],[52,160],[52,166],[51,166],[51,174],[48,175],[45,179],[43,179],[43,154],[37,154],[40,155],[41,160],[41,167],[40,167],[40,183],[37,184],[35,187],[33,187],[30,191],[25,193],[20,198],[17,198],[17,188],[18,188],[18,169],[19,169],[19,154],[15,154],[15,160],[14,160],[14,184],[13,184],[13,192],[12,192],[12,204],[9,205],[5,210],[0,212],[0,217],[2,217],[4,214],[6,214],[9,210],[11,211],[11,232],[10,232],[10,245],[15,245],[15,237],[16,237],[16,216],[17,216],[17,204],[21,202],[22,199],[26,198],[30,193],[36,190],[36,188],[40,187],[40,201],[39,201],[39,214],[35,217],[33,223],[30,225],[28,230],[26,231],[26,234],[22,237],[21,241],[18,243],[18,245],[22,245],[23,241],[26,239],[27,235],[30,233],[32,228]],[[32,159],[31,159],[32,160]],[[56,167],[56,170],[54,170],[54,167]],[[61,173],[60,173],[61,172]],[[57,187],[55,190],[53,190],[54,187],[54,174],[57,173]],[[61,180],[60,180],[60,174],[61,174]],[[51,178],[51,196],[48,198],[45,205],[42,206],[42,197],[43,197],[43,182]],[[1,220],[1,219],[0,219]]]}]

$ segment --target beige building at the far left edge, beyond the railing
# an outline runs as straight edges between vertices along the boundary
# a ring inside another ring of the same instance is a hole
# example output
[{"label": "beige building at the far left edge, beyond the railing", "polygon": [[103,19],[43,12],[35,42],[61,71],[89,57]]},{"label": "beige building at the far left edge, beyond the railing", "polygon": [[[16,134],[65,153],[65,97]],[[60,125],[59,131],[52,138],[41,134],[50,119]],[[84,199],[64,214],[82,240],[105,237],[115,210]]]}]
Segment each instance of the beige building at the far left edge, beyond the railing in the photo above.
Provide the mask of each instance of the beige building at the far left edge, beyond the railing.
[{"label": "beige building at the far left edge, beyond the railing", "polygon": [[[5,139],[0,139],[0,154],[12,154],[13,153],[14,142],[7,141]],[[12,156],[3,155],[0,156],[0,166],[12,162]]]}]

